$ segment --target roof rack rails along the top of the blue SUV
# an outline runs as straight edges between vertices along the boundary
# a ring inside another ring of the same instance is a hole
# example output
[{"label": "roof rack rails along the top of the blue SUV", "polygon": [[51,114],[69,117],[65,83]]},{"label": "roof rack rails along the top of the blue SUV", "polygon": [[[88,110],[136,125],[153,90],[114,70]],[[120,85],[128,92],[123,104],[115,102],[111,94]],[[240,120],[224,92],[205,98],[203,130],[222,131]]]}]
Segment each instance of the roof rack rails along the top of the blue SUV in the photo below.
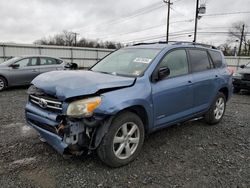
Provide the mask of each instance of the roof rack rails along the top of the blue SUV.
[{"label": "roof rack rails along the top of the blue SUV", "polygon": [[193,45],[193,46],[203,46],[206,48],[212,48],[212,49],[217,49],[215,46],[213,45],[209,45],[209,44],[203,44],[203,43],[197,43],[197,42],[189,42],[189,41],[158,41],[158,42],[149,42],[149,43],[137,43],[137,44],[133,44],[133,46],[139,46],[139,45],[150,45],[150,44],[171,44],[171,45],[181,45],[181,44],[186,44],[186,45]]}]

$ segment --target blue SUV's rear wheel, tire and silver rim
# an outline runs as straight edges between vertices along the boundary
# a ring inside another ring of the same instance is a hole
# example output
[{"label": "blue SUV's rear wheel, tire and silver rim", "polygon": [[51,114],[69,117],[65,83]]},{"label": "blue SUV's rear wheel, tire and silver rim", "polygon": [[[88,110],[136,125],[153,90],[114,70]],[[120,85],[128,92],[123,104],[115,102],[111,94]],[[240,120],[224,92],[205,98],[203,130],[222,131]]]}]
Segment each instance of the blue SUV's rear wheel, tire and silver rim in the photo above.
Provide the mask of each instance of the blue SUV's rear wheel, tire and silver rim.
[{"label": "blue SUV's rear wheel, tire and silver rim", "polygon": [[209,108],[208,112],[205,114],[205,121],[210,125],[215,125],[219,123],[226,111],[226,97],[223,93],[219,92],[216,98]]}]

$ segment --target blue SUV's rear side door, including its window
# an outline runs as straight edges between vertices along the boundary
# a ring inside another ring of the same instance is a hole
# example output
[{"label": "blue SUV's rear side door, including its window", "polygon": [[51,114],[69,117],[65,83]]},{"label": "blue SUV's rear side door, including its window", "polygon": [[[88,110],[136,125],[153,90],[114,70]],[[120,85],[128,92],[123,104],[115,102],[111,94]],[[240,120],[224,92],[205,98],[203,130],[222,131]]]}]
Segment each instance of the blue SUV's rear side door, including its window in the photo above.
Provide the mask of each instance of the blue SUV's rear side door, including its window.
[{"label": "blue SUV's rear side door, including its window", "polygon": [[218,70],[214,68],[207,50],[189,49],[188,54],[194,88],[194,112],[200,112],[209,108],[215,96]]}]

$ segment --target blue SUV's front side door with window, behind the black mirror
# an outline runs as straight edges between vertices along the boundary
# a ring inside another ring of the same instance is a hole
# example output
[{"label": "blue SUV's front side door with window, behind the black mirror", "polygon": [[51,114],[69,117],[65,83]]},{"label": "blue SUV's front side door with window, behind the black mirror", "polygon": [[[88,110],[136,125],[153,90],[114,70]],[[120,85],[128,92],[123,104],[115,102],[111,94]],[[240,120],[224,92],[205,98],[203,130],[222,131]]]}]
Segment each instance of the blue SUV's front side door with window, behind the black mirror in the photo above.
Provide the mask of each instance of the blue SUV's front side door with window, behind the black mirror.
[{"label": "blue SUV's front side door with window, behind the black mirror", "polygon": [[192,77],[185,49],[169,52],[160,62],[160,67],[168,67],[170,75],[152,83],[155,126],[175,122],[192,114]]}]

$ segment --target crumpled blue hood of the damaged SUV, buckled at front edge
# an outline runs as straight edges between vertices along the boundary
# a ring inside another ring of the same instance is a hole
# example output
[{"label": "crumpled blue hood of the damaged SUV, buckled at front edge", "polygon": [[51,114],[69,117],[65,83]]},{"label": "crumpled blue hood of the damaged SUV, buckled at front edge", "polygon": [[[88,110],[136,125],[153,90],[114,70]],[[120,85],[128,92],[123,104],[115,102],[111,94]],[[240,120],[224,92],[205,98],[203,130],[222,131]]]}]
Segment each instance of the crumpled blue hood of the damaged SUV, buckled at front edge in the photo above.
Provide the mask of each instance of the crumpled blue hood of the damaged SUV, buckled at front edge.
[{"label": "crumpled blue hood of the damaged SUV, buckled at front edge", "polygon": [[52,71],[37,76],[32,84],[60,100],[90,95],[101,89],[131,86],[135,78],[93,71]]}]

